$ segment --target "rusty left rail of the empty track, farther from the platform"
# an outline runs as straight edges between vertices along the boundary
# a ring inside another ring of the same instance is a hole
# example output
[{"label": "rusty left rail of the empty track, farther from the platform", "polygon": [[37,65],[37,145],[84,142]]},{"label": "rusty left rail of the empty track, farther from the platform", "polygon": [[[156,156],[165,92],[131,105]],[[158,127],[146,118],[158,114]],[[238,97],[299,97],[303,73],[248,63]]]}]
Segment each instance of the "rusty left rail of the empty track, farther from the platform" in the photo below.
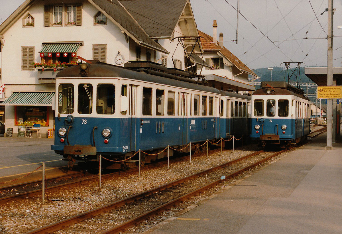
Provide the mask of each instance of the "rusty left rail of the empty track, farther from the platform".
[{"label": "rusty left rail of the empty track, farther from the platform", "polygon": [[[285,150],[283,150],[285,151]],[[283,152],[281,151],[281,152]],[[99,208],[96,208],[96,209],[93,209],[93,210],[90,210],[90,211],[86,211],[86,212],[83,212],[79,215],[76,215],[76,216],[73,216],[73,217],[70,217],[70,218],[67,218],[67,219],[64,219],[64,220],[61,220],[59,222],[56,222],[56,223],[53,223],[53,224],[50,224],[50,225],[47,225],[47,226],[43,226],[42,228],[39,228],[39,229],[36,229],[36,230],[33,230],[33,231],[30,231],[30,232],[27,232],[26,234],[33,234],[33,233],[50,233],[50,232],[54,232],[54,231],[58,231],[60,230],[61,228],[65,228],[66,226],[70,226],[72,224],[75,224],[77,222],[80,222],[80,221],[83,221],[83,220],[86,220],[86,219],[89,219],[89,218],[93,218],[94,216],[96,215],[100,215],[102,214],[103,212],[107,212],[107,211],[110,211],[110,210],[113,210],[113,209],[116,209],[120,206],[123,206],[123,205],[126,205],[126,204],[129,204],[131,202],[134,202],[136,200],[139,200],[140,198],[143,198],[143,197],[146,197],[148,195],[151,195],[151,194],[154,194],[154,193],[157,193],[159,191],[162,191],[162,190],[165,190],[165,189],[168,189],[172,186],[175,186],[175,185],[178,185],[178,184],[181,184],[181,183],[184,183],[188,180],[191,180],[191,179],[194,179],[194,178],[197,178],[199,177],[201,174],[206,174],[208,172],[211,172],[211,171],[214,171],[214,170],[217,170],[219,168],[222,168],[222,167],[225,167],[225,166],[229,166],[231,164],[234,164],[234,163],[237,163],[238,161],[241,161],[241,160],[244,160],[248,157],[251,157],[251,156],[254,156],[254,155],[257,155],[257,154],[260,154],[264,152],[264,150],[261,150],[261,151],[258,151],[258,152],[254,152],[252,154],[249,154],[249,155],[246,155],[246,156],[243,156],[241,158],[238,158],[238,159],[234,159],[234,160],[231,160],[227,163],[224,163],[224,164],[221,164],[219,166],[216,166],[216,167],[213,167],[213,168],[210,168],[210,169],[207,169],[207,170],[203,170],[203,171],[200,171],[200,172],[197,172],[197,173],[194,173],[190,176],[187,176],[185,178],[182,178],[182,179],[179,179],[179,180],[175,180],[175,181],[172,181],[172,182],[169,182],[167,184],[164,184],[164,185],[161,185],[161,186],[158,186],[158,187],[155,187],[153,189],[150,189],[148,191],[144,191],[144,192],[141,192],[141,193],[138,193],[138,194],[135,194],[133,196],[130,196],[130,197],[127,197],[127,198],[124,198],[124,199],[121,199],[117,202],[114,202],[114,203],[111,203],[111,204],[108,204],[108,205],[105,205],[105,206],[102,206],[102,207],[99,207]],[[279,154],[279,153],[278,153]],[[253,165],[252,165],[253,166]],[[251,166],[251,167],[252,167]],[[247,170],[247,169],[244,169],[244,170]],[[197,190],[196,190],[197,191]],[[202,190],[201,190],[202,191]],[[192,192],[193,193],[193,192]],[[183,197],[183,196],[182,196]],[[167,203],[169,204],[169,203]],[[173,203],[172,203],[173,204]],[[161,209],[161,208],[160,208]],[[155,209],[154,209],[155,210]],[[159,209],[158,209],[159,210]],[[152,211],[149,211],[148,213],[150,213]],[[154,211],[156,212],[156,211]],[[139,216],[140,217],[140,216]],[[134,221],[131,221],[131,222],[137,222],[136,220],[139,218],[135,218]],[[123,224],[122,224],[123,225]],[[127,224],[128,225],[128,224]],[[120,228],[122,229],[122,228]]]}]

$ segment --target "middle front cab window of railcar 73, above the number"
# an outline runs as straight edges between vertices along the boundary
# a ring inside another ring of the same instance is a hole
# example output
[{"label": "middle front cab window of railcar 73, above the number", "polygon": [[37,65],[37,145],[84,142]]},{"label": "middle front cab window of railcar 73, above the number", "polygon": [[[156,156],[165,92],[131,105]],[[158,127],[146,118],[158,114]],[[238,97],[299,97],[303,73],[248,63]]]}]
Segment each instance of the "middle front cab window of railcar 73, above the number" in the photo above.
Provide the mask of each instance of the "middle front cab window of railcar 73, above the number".
[{"label": "middle front cab window of railcar 73, above the number", "polygon": [[78,85],[77,111],[79,114],[91,114],[93,112],[93,85]]}]

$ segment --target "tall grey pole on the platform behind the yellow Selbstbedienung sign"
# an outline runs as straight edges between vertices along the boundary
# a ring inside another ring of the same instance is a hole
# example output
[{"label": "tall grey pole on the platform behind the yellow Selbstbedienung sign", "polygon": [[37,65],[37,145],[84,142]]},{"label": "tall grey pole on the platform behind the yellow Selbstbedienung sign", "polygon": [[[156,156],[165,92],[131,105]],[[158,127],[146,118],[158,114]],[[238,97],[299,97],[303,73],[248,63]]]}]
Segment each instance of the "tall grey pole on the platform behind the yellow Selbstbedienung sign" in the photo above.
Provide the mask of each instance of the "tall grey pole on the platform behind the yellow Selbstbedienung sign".
[{"label": "tall grey pole on the platform behind the yellow Selbstbedienung sign", "polygon": [[[328,0],[328,69],[327,85],[333,85],[332,79],[332,24],[333,24],[333,0]],[[332,99],[327,99],[327,146],[326,150],[332,149]]]}]

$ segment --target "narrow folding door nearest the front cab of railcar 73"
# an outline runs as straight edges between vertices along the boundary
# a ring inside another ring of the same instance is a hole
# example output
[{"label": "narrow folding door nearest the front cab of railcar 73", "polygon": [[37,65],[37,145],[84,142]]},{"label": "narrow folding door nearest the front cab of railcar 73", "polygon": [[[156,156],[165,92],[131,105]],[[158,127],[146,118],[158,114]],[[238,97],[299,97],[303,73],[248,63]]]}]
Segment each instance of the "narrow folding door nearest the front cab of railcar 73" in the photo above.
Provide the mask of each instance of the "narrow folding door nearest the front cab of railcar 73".
[{"label": "narrow folding door nearest the front cab of railcar 73", "polygon": [[131,119],[131,151],[136,151],[136,86],[129,86],[129,114]]}]

